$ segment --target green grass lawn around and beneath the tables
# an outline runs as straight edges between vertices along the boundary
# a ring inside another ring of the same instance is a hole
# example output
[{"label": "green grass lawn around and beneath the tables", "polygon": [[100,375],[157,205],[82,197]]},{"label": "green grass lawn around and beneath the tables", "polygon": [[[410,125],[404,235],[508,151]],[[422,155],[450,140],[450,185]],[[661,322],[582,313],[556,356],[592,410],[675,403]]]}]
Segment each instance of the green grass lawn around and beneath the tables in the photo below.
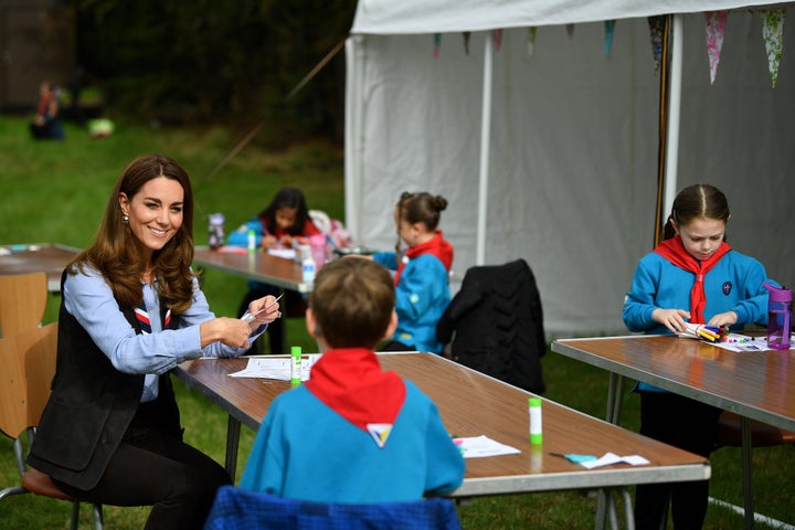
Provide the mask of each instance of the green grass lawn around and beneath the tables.
[{"label": "green grass lawn around and beneath the tables", "polygon": [[[63,142],[34,142],[26,119],[0,116],[0,244],[61,243],[83,248],[94,235],[114,182],[134,157],[160,152],[180,161],[192,176],[195,241],[206,244],[206,215],[222,212],[226,230],[234,230],[258,212],[275,191],[300,187],[310,208],[343,219],[342,152],[321,141],[306,142],[280,152],[248,146],[221,171],[215,166],[243,137],[222,126],[192,129],[146,129],[118,123],[113,136],[91,139],[67,124]],[[203,287],[218,315],[232,316],[245,290],[245,280],[205,271]],[[57,317],[59,297],[51,296],[45,321]],[[301,319],[287,320],[288,340],[305,351],[317,348]],[[543,359],[547,398],[604,417],[607,373],[548,353]],[[186,438],[223,463],[226,418],[220,410],[176,381]],[[638,400],[627,394],[623,426],[637,428]],[[251,449],[253,433],[243,428],[239,476]],[[711,494],[742,506],[740,448],[713,454]],[[795,452],[792,446],[754,452],[755,508],[760,513],[795,524]],[[18,484],[11,441],[0,436],[0,488]],[[465,529],[577,529],[593,528],[596,501],[583,492],[550,492],[473,499],[459,506]],[[147,508],[105,507],[106,528],[144,527]],[[68,528],[70,507],[30,495],[0,502],[0,528]],[[82,524],[91,512],[83,507]],[[706,528],[742,528],[742,516],[710,506]],[[770,528],[757,524],[757,528]],[[775,528],[775,527],[773,527]]]}]

